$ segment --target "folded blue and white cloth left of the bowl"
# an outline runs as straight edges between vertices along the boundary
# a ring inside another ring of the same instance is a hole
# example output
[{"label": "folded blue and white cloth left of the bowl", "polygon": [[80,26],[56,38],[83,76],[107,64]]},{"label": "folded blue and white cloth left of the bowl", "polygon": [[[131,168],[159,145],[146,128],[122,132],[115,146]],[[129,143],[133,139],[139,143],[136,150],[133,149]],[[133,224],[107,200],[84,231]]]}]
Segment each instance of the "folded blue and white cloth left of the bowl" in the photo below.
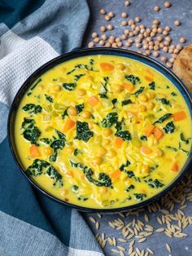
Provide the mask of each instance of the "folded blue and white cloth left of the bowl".
[{"label": "folded blue and white cloth left of the bowl", "polygon": [[87,3],[0,1],[0,7],[0,255],[103,255],[80,213],[50,201],[28,183],[6,138],[8,110],[26,78],[81,46]]}]

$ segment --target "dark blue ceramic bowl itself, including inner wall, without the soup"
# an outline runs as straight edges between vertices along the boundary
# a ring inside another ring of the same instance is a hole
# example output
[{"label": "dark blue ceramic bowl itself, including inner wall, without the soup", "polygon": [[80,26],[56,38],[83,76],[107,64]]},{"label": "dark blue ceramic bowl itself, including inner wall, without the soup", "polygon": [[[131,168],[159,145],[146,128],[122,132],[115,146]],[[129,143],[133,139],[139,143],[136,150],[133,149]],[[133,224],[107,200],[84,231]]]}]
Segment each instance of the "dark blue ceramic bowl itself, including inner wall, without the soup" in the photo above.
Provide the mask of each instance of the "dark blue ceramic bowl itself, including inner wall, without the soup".
[{"label": "dark blue ceramic bowl itself, including inner wall, without the soup", "polygon": [[[13,100],[13,103],[11,104],[11,109],[9,113],[9,118],[8,118],[8,139],[9,139],[9,144],[11,148],[12,155],[15,159],[15,162],[17,166],[20,168],[24,176],[28,179],[30,183],[33,184],[35,188],[37,188],[39,191],[44,193],[46,196],[50,197],[50,199],[58,201],[62,203],[63,205],[68,205],[73,208],[76,208],[77,210],[82,210],[86,212],[103,212],[103,213],[114,213],[118,211],[124,211],[124,210],[131,210],[131,209],[136,209],[138,207],[142,207],[144,205],[147,205],[151,203],[152,201],[155,201],[159,198],[159,196],[164,195],[166,192],[168,192],[173,186],[177,184],[177,182],[181,179],[181,177],[186,173],[186,171],[189,169],[190,164],[191,164],[191,155],[192,155],[192,150],[190,149],[190,154],[189,157],[187,158],[185,162],[185,166],[183,166],[182,170],[180,171],[180,174],[176,177],[176,179],[172,180],[172,183],[168,185],[167,188],[164,188],[163,191],[159,192],[157,195],[151,197],[150,199],[146,201],[142,201],[141,203],[137,203],[135,205],[129,205],[126,207],[120,207],[120,208],[115,208],[115,209],[94,209],[94,208],[86,208],[86,207],[81,207],[78,205],[72,205],[68,202],[59,200],[55,196],[52,196],[49,192],[46,192],[44,188],[41,188],[37,183],[33,181],[30,177],[28,177],[25,174],[24,171],[24,166],[22,165],[22,162],[20,161],[20,157],[18,156],[18,153],[16,152],[15,149],[15,139],[14,139],[14,127],[15,127],[15,114],[17,112],[17,108],[20,105],[20,100],[24,96],[25,92],[28,90],[28,88],[37,80],[38,77],[40,77],[43,73],[45,73],[47,70],[50,68],[55,67],[55,65],[61,64],[67,60],[72,60],[76,59],[81,56],[86,56],[86,55],[119,55],[119,56],[124,56],[127,58],[131,58],[133,60],[138,60],[142,62],[143,64],[147,64],[151,66],[152,68],[155,68],[159,73],[162,73],[165,77],[167,77],[173,84],[174,86],[177,87],[178,90],[180,90],[181,94],[185,98],[185,102],[190,110],[190,116],[192,115],[192,96],[190,94],[190,91],[185,87],[185,85],[181,82],[181,80],[174,74],[172,73],[168,68],[165,68],[163,64],[159,64],[156,60],[153,60],[149,57],[146,57],[144,55],[138,54],[137,52],[133,51],[125,51],[121,49],[113,49],[113,48],[93,48],[93,49],[76,49],[72,52],[66,53],[64,55],[61,55],[54,60],[50,60],[48,63],[44,64],[41,66],[41,68],[38,68],[36,72],[34,72],[26,82],[24,82],[24,85],[20,87],[20,90],[18,93],[15,95],[15,99]],[[189,127],[191,129],[191,127]]]}]

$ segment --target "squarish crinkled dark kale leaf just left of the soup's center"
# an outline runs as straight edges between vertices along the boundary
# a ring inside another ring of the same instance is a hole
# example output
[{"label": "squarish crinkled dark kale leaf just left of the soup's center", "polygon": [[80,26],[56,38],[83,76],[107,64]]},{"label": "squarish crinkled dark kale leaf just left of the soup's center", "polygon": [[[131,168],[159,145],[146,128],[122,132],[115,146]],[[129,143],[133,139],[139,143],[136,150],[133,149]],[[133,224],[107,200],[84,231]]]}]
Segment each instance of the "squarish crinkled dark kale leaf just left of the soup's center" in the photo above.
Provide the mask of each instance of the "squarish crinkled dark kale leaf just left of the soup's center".
[{"label": "squarish crinkled dark kale leaf just left of the soup's center", "polygon": [[93,136],[94,132],[89,130],[89,125],[87,122],[76,121],[75,139],[84,140],[85,142],[87,142]]}]

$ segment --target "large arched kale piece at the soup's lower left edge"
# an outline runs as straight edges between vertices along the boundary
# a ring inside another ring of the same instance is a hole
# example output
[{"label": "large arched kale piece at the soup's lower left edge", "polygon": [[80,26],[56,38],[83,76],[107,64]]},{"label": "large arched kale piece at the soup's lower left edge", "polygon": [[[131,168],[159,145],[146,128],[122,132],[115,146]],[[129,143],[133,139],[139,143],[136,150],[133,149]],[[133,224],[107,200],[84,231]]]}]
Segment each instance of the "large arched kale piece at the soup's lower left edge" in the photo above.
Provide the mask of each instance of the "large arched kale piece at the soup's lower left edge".
[{"label": "large arched kale piece at the soup's lower left edge", "polygon": [[63,178],[61,174],[59,174],[55,167],[51,166],[48,161],[35,159],[33,161],[33,164],[31,166],[28,166],[26,174],[29,176],[39,176],[41,174],[47,174],[48,176],[50,176],[50,179],[54,180],[54,187],[57,183],[59,185],[59,188],[63,186]]}]

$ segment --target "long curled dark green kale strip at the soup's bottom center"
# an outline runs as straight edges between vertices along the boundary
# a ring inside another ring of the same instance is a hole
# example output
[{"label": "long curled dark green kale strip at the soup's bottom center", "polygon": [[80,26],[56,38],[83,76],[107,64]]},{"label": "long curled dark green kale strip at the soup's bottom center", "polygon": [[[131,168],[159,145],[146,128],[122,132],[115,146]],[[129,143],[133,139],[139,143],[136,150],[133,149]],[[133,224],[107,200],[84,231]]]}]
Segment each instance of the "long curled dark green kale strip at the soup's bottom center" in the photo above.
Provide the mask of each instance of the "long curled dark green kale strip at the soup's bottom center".
[{"label": "long curled dark green kale strip at the soup's bottom center", "polygon": [[82,170],[85,174],[86,179],[89,180],[90,183],[93,183],[97,187],[111,187],[111,178],[104,173],[98,174],[98,180],[92,178],[92,175],[94,174],[93,170],[91,170],[89,167],[84,166],[81,163],[75,163],[70,161],[70,164],[74,168],[79,168]]}]

